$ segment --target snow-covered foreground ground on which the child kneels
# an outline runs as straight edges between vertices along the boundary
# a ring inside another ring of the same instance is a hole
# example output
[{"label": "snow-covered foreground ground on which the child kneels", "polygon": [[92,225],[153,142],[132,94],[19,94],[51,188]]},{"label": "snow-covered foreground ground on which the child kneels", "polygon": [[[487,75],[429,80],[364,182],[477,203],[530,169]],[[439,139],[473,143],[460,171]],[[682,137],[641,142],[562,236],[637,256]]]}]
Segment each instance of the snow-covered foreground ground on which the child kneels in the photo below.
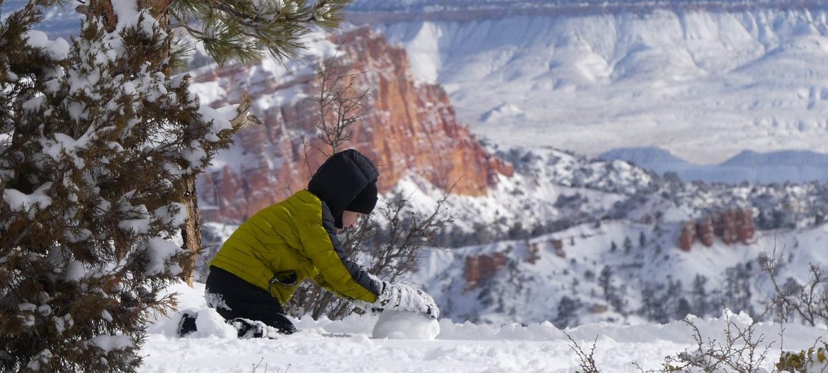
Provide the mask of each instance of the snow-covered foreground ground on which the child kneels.
[{"label": "snow-covered foreground ground on which the child kneels", "polygon": [[[342,321],[310,318],[296,320],[301,329],[277,339],[238,339],[217,314],[206,308],[203,285],[171,288],[180,294],[180,309],[200,312],[200,332],[175,336],[176,314],[152,325],[141,351],[141,372],[568,372],[580,370],[572,343],[550,323],[505,326],[455,323],[440,320],[434,340],[374,339],[375,316],[350,317]],[[695,319],[705,338],[724,341],[727,320],[746,328],[744,315],[723,313],[722,318]],[[780,351],[813,346],[826,328],[807,328],[760,323],[755,339],[770,346],[763,367],[771,370]],[[664,356],[693,351],[691,328],[681,322],[614,326],[586,324],[566,330],[589,352],[593,342],[595,365],[604,372],[657,369]],[[597,338],[597,339],[596,339]],[[783,344],[782,344],[783,342]]]}]

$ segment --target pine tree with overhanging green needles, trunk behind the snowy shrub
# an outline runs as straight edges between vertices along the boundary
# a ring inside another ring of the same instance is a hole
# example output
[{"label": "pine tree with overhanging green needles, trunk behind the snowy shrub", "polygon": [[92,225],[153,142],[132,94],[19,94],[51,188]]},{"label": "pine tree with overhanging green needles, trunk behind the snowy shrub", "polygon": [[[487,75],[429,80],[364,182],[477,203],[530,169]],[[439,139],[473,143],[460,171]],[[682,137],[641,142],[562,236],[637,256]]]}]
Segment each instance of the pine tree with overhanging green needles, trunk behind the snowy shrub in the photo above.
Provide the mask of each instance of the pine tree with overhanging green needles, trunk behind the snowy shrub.
[{"label": "pine tree with overhanging green needles, trunk behind the snowy shrub", "polygon": [[[172,36],[184,30],[205,46],[205,50],[219,65],[239,61],[256,62],[270,55],[277,60],[291,58],[304,48],[302,38],[321,26],[331,29],[342,21],[341,10],[350,0],[234,0],[205,2],[204,0],[129,0],[118,7],[132,4],[146,11],[156,21],[156,31]],[[99,18],[106,31],[116,31],[118,14],[111,0],[90,0],[79,7],[88,17]],[[172,49],[171,45],[185,45]],[[182,39],[168,38],[166,48],[142,55],[142,61],[152,65],[168,61],[165,74],[180,66],[182,53],[190,48]],[[249,108],[249,102],[243,103]],[[195,190],[195,177],[185,181],[186,191],[181,203],[186,219],[181,236],[190,256],[184,261],[182,279],[192,285],[195,263],[202,248],[200,213]]]}]

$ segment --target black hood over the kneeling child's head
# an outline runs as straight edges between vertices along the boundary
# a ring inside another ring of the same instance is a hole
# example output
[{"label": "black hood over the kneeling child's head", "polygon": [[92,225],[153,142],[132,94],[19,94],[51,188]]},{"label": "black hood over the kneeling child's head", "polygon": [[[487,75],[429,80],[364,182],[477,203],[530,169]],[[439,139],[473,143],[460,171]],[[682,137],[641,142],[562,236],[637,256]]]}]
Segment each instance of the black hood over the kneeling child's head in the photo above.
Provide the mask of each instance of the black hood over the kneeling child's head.
[{"label": "black hood over the kneeling child's head", "polygon": [[[342,213],[354,198],[379,178],[377,166],[359,151],[349,149],[331,155],[310,178],[308,190],[328,205],[335,226],[342,228]],[[374,189],[376,190],[376,189]]]}]

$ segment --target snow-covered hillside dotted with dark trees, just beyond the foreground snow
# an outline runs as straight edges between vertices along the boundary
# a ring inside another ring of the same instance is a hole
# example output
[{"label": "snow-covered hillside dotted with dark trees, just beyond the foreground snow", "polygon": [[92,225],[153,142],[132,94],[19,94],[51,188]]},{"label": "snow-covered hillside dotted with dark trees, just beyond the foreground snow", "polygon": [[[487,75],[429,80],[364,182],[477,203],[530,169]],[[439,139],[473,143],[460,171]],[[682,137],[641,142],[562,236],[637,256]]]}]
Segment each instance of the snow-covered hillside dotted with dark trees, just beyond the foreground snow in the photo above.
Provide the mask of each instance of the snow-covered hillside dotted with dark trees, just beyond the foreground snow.
[{"label": "snow-covered hillside dotted with dark trees, just beyond the foreground snow", "polygon": [[[782,256],[780,281],[805,283],[811,264],[828,267],[825,226],[760,232],[749,244],[717,240],[691,251],[676,245],[678,228],[602,222],[527,240],[432,249],[412,281],[435,295],[446,318],[571,327],[715,316],[722,304],[758,317],[774,294],[761,257]],[[504,259],[469,281],[469,258],[481,256]]]}]

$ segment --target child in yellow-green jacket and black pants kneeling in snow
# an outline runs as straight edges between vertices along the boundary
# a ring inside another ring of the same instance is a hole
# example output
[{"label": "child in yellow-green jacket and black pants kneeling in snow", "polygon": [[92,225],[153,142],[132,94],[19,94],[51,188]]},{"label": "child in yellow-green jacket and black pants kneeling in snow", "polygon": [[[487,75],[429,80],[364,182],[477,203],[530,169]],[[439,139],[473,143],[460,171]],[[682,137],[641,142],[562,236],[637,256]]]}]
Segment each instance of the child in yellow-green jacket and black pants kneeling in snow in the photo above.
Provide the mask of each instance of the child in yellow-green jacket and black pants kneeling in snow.
[{"label": "child in yellow-green jacket and black pants kneeling in snow", "polygon": [[[337,232],[354,227],[377,203],[379,172],[358,151],[340,151],[320,166],[308,188],[253,215],[210,262],[207,303],[239,337],[266,328],[296,332],[282,309],[302,280],[310,279],[362,308],[422,313],[439,309],[431,296],[378,280],[344,255]],[[182,318],[179,335],[195,331],[195,314]]]}]

